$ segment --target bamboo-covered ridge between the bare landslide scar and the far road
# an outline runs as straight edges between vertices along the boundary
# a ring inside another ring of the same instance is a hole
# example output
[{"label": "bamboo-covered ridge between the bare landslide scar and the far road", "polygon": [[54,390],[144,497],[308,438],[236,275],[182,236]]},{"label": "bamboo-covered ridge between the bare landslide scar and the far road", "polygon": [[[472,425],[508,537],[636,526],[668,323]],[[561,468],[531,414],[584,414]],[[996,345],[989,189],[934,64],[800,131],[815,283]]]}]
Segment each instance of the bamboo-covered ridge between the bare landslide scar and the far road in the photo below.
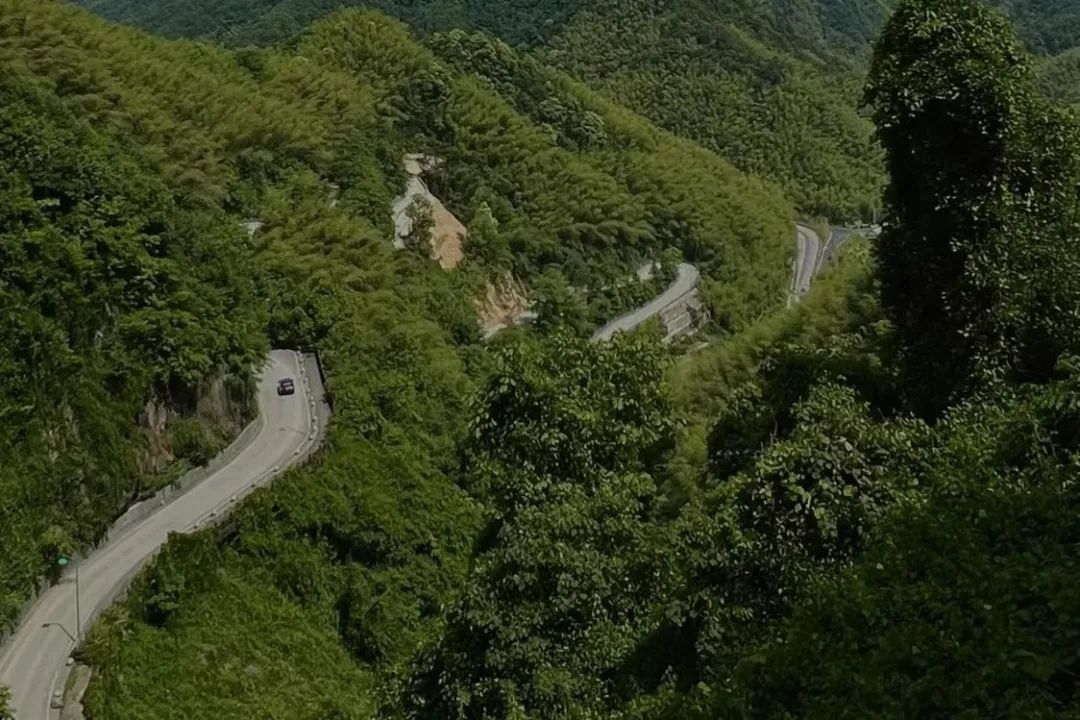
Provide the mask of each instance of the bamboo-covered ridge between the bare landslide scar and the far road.
[{"label": "bamboo-covered ridge between the bare landslide scar and the far road", "polygon": [[[521,114],[403,26],[349,17],[318,25],[298,52],[380,78],[403,132],[442,160],[432,190],[467,226],[490,213],[519,276],[557,269],[573,286],[597,288],[676,247],[714,281],[725,327],[775,302],[791,209],[771,187],[582,87],[567,91],[576,99],[555,126]],[[561,139],[583,124],[586,142]]]}]

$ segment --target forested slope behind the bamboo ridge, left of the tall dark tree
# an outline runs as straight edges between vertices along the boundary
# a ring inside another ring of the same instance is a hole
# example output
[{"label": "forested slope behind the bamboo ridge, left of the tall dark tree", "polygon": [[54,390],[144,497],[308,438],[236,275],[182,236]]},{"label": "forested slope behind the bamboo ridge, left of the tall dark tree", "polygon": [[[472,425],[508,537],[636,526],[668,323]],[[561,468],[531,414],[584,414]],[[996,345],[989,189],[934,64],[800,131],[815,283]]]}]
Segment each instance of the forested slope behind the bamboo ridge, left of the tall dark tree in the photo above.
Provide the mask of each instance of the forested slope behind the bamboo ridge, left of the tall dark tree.
[{"label": "forested slope behind the bamboo ridge, left of the tall dark tree", "polygon": [[[796,206],[869,217],[880,171],[854,111],[859,76],[812,57],[802,36],[768,32],[702,6],[599,2],[538,51],[546,62],[660,125],[780,181]],[[748,27],[747,27],[748,26]],[[812,38],[811,38],[812,40]]]}]

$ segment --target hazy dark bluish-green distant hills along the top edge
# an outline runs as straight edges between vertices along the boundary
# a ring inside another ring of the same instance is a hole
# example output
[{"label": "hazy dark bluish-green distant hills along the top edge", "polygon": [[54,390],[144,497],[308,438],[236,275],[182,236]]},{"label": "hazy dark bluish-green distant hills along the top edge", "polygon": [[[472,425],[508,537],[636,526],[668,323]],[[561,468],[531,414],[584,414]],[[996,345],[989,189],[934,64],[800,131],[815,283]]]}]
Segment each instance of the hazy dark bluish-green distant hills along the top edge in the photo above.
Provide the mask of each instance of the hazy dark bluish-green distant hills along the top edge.
[{"label": "hazy dark bluish-green distant hills along the top edge", "polygon": [[[1080,44],[1080,6],[1070,0],[987,0],[1009,14],[1039,54]],[[207,37],[226,44],[276,42],[341,6],[376,8],[421,32],[483,29],[512,44],[548,42],[596,0],[75,0],[110,19],[171,37]],[[816,57],[865,57],[896,0],[690,0],[677,3],[702,25],[738,25],[780,50]],[[671,12],[671,3],[650,3]]]}]

